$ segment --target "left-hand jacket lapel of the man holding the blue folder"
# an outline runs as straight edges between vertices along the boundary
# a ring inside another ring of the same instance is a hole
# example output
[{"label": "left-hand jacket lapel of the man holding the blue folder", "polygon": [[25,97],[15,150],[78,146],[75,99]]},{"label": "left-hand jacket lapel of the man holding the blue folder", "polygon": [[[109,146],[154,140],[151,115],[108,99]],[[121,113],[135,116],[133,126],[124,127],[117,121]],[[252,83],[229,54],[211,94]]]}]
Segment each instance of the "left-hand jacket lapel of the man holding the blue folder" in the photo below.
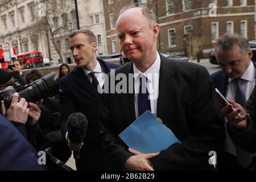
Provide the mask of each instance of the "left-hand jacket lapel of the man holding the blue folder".
[{"label": "left-hand jacket lapel of the man holding the blue folder", "polygon": [[[123,72],[125,73],[127,78],[129,78],[129,73],[133,73],[133,63],[129,63],[129,64],[130,65],[127,65],[127,69]],[[127,79],[127,88],[129,88],[128,79]],[[128,92],[129,91],[127,90],[126,94],[120,94],[120,95],[121,95],[123,113],[125,113],[126,121],[130,125],[130,123],[134,122],[136,119],[135,108],[134,108],[134,88],[133,88],[133,93],[128,93]]]}]

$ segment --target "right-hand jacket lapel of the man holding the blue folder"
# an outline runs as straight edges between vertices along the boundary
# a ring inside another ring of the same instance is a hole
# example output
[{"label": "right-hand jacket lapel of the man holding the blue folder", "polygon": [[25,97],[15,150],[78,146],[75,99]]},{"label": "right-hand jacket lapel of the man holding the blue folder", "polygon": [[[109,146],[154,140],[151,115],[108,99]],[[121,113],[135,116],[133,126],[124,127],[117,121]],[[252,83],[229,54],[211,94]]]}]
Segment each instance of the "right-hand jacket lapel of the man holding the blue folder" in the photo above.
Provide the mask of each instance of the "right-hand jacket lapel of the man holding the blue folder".
[{"label": "right-hand jacket lapel of the man holding the blue folder", "polygon": [[159,75],[159,96],[157,105],[157,115],[165,120],[168,118],[168,113],[175,110],[175,105],[172,103],[172,98],[175,92],[175,71],[172,68],[170,60],[160,55],[160,75]]}]

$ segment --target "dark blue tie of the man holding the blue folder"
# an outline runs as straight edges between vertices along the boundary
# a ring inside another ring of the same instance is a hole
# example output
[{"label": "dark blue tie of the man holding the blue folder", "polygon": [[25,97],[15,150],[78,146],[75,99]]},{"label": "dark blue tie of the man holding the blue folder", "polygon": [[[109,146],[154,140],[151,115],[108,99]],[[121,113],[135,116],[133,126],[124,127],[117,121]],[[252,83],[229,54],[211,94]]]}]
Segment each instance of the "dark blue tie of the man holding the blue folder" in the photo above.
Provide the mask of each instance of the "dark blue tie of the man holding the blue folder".
[{"label": "dark blue tie of the man holding the blue folder", "polygon": [[144,75],[139,75],[139,93],[138,93],[138,114],[139,117],[146,111],[150,110],[150,100],[148,100],[148,91],[147,91],[147,77]]}]

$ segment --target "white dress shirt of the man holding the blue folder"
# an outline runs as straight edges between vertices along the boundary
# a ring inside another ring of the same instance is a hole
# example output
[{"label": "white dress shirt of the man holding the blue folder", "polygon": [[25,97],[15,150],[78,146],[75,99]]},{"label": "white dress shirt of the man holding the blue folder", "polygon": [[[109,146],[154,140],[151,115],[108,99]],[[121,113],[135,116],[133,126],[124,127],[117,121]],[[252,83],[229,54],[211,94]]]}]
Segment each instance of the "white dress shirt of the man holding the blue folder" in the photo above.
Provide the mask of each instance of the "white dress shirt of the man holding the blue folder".
[{"label": "white dress shirt of the man holding the blue folder", "polygon": [[158,105],[158,93],[159,93],[159,71],[160,71],[160,56],[156,52],[156,60],[147,69],[146,72],[142,73],[139,69],[133,64],[134,72],[134,107],[135,107],[135,116],[138,118],[138,93],[139,93],[139,75],[142,73],[147,77],[147,90],[150,98],[151,113],[157,114],[157,105]]}]

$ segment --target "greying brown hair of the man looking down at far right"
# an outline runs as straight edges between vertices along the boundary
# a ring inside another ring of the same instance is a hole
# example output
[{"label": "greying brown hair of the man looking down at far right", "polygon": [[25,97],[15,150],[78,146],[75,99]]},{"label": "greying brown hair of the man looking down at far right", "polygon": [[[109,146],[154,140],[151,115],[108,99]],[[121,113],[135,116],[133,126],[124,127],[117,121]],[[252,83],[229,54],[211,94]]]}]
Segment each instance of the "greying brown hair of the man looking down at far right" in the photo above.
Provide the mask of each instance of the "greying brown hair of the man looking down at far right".
[{"label": "greying brown hair of the man looking down at far right", "polygon": [[226,33],[217,39],[215,53],[229,51],[234,46],[240,47],[243,55],[250,50],[250,44],[244,36]]}]

